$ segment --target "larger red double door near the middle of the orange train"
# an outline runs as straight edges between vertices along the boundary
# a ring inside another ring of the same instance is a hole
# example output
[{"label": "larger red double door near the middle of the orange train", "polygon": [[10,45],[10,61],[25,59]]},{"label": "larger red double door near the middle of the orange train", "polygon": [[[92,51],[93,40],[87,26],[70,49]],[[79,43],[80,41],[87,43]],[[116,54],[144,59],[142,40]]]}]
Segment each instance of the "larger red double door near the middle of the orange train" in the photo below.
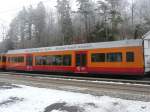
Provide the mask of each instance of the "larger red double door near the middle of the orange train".
[{"label": "larger red double door near the middle of the orange train", "polygon": [[87,53],[76,52],[76,73],[87,73]]}]

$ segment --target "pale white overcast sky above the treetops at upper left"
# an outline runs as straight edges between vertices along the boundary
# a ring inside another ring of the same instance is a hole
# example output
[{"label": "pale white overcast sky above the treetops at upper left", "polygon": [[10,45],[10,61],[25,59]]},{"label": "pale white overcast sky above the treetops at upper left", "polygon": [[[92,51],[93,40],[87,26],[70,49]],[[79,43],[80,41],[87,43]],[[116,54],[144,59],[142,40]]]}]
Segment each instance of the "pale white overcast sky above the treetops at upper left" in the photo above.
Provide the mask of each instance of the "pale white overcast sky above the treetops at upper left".
[{"label": "pale white overcast sky above the treetops at upper left", "polygon": [[[2,40],[3,34],[8,30],[11,20],[23,6],[26,8],[30,5],[36,7],[40,1],[44,3],[46,9],[49,9],[55,8],[57,0],[0,0],[0,41]],[[76,0],[70,0],[73,9],[75,9],[75,1]],[[5,31],[3,31],[3,29],[5,29]]]}]

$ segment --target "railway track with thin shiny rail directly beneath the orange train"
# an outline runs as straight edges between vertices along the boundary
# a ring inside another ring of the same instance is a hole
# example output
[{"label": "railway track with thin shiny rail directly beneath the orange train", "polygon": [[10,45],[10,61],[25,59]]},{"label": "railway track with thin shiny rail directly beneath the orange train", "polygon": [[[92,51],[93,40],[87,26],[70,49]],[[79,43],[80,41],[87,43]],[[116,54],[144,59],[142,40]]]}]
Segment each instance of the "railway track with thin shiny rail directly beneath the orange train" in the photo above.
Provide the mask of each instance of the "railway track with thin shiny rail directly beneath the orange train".
[{"label": "railway track with thin shiny rail directly beneath the orange train", "polygon": [[93,82],[106,82],[106,83],[126,83],[126,84],[146,84],[150,85],[150,77],[144,77],[140,79],[123,79],[123,78],[94,78],[87,76],[69,76],[69,75],[49,75],[49,74],[35,74],[35,73],[19,73],[19,72],[0,72],[0,74],[11,75],[24,75],[31,77],[43,77],[43,78],[59,78],[63,80],[78,80],[78,81],[93,81]]}]

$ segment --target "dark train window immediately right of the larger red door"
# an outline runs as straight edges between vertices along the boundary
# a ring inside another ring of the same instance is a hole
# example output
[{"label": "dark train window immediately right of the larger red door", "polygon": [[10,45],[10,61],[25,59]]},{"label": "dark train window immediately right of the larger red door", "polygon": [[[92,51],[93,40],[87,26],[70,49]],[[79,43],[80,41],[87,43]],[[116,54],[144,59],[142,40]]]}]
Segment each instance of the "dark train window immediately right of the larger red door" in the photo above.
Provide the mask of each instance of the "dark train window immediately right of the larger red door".
[{"label": "dark train window immediately right of the larger red door", "polygon": [[105,53],[95,53],[91,57],[92,62],[105,62]]}]

